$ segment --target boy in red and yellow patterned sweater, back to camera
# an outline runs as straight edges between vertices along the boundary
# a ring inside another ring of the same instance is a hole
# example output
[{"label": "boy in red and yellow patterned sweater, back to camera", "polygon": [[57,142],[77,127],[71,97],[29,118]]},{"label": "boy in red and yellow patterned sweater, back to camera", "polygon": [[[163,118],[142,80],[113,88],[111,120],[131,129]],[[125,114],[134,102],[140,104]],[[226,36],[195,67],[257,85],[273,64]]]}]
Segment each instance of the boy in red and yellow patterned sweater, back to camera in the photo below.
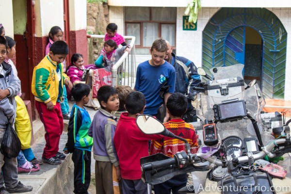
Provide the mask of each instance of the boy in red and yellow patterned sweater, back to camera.
[{"label": "boy in red and yellow patterned sweater, back to camera", "polygon": [[[198,151],[197,136],[194,127],[182,120],[182,115],[187,111],[187,98],[181,93],[172,94],[167,101],[166,108],[170,120],[163,123],[166,129],[177,136],[183,137],[191,146],[191,153]],[[186,151],[185,143],[172,137],[163,137],[153,140],[150,146],[150,155],[163,153],[166,156],[174,157],[178,151]],[[154,186],[155,194],[178,194],[178,190],[187,184],[187,174],[178,175],[163,183]]]}]

